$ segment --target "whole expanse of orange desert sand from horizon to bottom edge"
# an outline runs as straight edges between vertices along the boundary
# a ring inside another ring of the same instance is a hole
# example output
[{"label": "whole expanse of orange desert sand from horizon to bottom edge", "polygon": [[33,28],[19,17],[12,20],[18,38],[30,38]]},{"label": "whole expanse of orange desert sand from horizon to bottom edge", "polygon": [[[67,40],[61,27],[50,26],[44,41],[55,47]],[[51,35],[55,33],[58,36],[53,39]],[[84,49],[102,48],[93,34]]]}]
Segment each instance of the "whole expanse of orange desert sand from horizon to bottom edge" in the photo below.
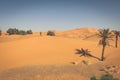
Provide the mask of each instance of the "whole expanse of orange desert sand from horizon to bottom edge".
[{"label": "whole expanse of orange desert sand from horizon to bottom edge", "polygon": [[[41,65],[42,67],[50,67],[51,65],[55,65],[55,67],[51,69],[58,69],[61,73],[65,73],[64,69],[68,68],[64,75],[56,75],[57,78],[62,77],[60,80],[89,80],[90,76],[88,75],[86,77],[83,70],[84,75],[82,75],[79,70],[80,68],[85,67],[86,73],[88,70],[91,75],[96,75],[99,73],[99,70],[97,71],[98,66],[100,68],[106,65],[120,67],[120,40],[118,41],[118,48],[114,47],[115,41],[110,41],[111,46],[106,47],[105,60],[102,62],[95,58],[80,57],[80,55],[75,54],[76,49],[84,48],[91,51],[90,53],[92,55],[101,58],[102,46],[98,45],[99,38],[94,36],[97,33],[97,29],[78,28],[68,31],[53,31],[56,33],[56,36],[46,36],[45,32],[42,36],[40,36],[39,32],[24,36],[5,34],[0,36],[0,72],[3,74],[10,69],[21,70],[22,67],[25,67],[24,69],[29,71],[27,70],[29,67],[27,68],[26,66]],[[82,65],[82,61],[87,61],[88,65]],[[94,70],[92,70],[93,67]],[[33,67],[30,68],[30,70],[31,69],[33,69]],[[34,68],[33,70],[38,71],[40,68],[38,68],[38,70],[36,69],[37,68]],[[69,71],[72,69],[73,71],[78,69],[78,72]],[[40,70],[42,71],[44,69]],[[45,71],[47,73],[51,72],[47,68],[45,68]],[[94,74],[92,74],[92,71]],[[47,75],[47,77],[42,75],[44,76],[43,80],[55,80],[54,77],[56,76],[53,73],[54,71],[51,72],[51,75],[49,73],[50,76]],[[120,78],[120,68],[117,69],[117,73],[113,74]],[[36,75],[34,76],[35,79],[27,78],[26,80],[41,80],[40,76],[41,75]],[[36,77],[39,77],[39,79],[36,79]],[[58,80],[57,78],[56,80]],[[5,78],[3,76],[1,76],[1,79],[13,80],[12,78]],[[21,78],[16,80],[24,79]]]}]

